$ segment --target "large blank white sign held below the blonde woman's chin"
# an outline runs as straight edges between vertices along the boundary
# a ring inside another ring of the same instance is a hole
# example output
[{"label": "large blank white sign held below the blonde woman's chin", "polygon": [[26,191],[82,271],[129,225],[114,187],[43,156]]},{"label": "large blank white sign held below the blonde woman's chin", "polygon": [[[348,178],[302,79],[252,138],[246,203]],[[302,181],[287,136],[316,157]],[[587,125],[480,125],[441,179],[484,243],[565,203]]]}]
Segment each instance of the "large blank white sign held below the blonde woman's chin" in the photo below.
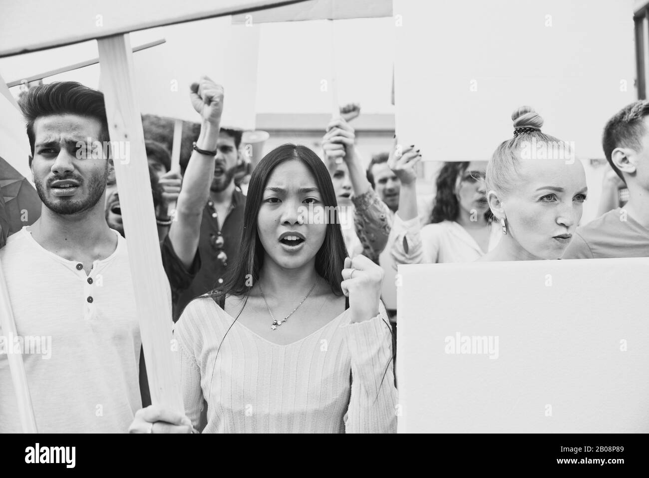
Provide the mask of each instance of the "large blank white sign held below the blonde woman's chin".
[{"label": "large blank white sign held below the blonde woman's chin", "polygon": [[399,273],[400,433],[649,432],[649,258]]}]

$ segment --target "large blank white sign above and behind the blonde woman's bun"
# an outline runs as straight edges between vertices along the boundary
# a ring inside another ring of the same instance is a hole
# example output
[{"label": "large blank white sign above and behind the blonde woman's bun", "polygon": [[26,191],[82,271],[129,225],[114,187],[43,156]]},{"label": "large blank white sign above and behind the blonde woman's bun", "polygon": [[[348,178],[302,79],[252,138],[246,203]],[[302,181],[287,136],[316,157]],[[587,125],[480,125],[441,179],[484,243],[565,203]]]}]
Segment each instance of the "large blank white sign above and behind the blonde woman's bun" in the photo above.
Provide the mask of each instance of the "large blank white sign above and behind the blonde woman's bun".
[{"label": "large blank white sign above and behind the blonde woman's bun", "polygon": [[637,99],[632,0],[395,0],[396,124],[424,160],[491,157],[530,105],[544,131],[603,158],[608,118]]}]

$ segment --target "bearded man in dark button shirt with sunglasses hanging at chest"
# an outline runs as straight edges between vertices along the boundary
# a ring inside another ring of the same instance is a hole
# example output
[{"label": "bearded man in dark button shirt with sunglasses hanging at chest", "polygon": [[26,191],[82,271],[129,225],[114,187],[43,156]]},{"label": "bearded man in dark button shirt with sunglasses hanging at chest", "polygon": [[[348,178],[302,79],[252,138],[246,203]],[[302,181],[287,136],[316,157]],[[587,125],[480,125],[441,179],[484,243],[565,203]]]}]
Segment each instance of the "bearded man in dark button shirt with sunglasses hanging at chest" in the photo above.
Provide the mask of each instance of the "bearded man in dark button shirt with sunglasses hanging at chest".
[{"label": "bearded man in dark button shirt with sunglasses hanging at chest", "polygon": [[[228,267],[239,254],[245,195],[234,184],[234,173],[241,161],[242,133],[226,128],[219,131],[210,195],[202,207],[201,232],[197,236],[201,269],[190,286],[179,294],[178,301],[174,301],[174,321],[192,299],[223,284]],[[186,177],[187,172],[185,181]]]}]

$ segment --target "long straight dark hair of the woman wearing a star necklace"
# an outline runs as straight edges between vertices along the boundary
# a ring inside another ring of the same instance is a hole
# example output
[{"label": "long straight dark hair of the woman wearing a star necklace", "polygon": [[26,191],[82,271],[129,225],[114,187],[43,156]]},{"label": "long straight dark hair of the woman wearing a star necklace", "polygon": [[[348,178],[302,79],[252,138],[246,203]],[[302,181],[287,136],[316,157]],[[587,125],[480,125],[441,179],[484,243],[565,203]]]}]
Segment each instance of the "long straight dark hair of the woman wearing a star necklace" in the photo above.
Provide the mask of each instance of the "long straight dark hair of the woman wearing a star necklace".
[{"label": "long straight dark hair of the woman wearing a star necklace", "polygon": [[[306,146],[295,144],[284,144],[273,149],[252,171],[243,212],[243,233],[241,234],[238,260],[234,268],[227,273],[223,285],[218,290],[210,292],[210,296],[217,297],[220,294],[225,294],[247,298],[251,289],[248,285],[250,284],[249,279],[252,277],[252,284],[256,284],[259,280],[264,250],[257,231],[257,216],[262,207],[263,190],[275,168],[289,160],[302,161],[311,171],[317,188],[322,194],[325,207],[337,206],[336,193],[329,172],[313,151]],[[345,264],[345,257],[347,257],[347,249],[340,223],[337,220],[337,210],[335,214],[336,220],[327,224],[323,245],[315,255],[315,270],[330,285],[336,296],[342,296],[343,290],[340,283],[343,281],[343,277],[341,272]]]}]

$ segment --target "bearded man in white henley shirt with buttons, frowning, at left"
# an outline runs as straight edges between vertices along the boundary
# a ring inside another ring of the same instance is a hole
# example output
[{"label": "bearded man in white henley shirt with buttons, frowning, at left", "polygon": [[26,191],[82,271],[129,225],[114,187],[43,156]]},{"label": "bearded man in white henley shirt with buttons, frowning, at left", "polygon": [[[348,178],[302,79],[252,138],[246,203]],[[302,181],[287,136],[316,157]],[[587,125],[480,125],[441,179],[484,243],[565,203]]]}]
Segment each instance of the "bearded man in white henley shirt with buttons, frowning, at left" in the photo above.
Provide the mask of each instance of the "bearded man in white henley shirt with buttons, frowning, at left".
[{"label": "bearded man in white henley shirt with buttons, frowning, at left", "polygon": [[[197,86],[192,100],[201,103],[209,122],[215,111],[220,118],[223,96],[222,90],[205,90]],[[109,141],[104,97],[76,82],[56,82],[30,90],[21,107],[42,214],[8,239],[0,261],[18,335],[32,344],[23,362],[38,431],[125,432],[142,404],[127,244],[104,216],[111,160],[103,148],[95,155],[79,147],[88,138],[92,144]],[[210,147],[199,139],[199,147]],[[160,326],[167,326],[164,318]],[[0,355],[0,430],[17,433],[11,383],[8,361]]]}]

